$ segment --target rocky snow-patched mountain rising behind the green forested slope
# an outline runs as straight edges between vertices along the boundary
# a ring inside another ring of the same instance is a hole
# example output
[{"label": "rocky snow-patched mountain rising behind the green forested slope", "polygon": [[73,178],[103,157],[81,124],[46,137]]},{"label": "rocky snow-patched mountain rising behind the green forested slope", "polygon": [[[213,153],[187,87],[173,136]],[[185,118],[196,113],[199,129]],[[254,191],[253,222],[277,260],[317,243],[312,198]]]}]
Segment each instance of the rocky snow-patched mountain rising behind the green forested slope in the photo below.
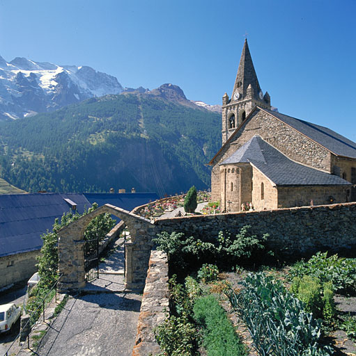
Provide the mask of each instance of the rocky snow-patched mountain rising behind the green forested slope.
[{"label": "rocky snow-patched mountain rising behind the green forested slope", "polygon": [[121,92],[123,87],[114,76],[91,67],[36,63],[20,57],[6,62],[0,56],[0,120]]}]

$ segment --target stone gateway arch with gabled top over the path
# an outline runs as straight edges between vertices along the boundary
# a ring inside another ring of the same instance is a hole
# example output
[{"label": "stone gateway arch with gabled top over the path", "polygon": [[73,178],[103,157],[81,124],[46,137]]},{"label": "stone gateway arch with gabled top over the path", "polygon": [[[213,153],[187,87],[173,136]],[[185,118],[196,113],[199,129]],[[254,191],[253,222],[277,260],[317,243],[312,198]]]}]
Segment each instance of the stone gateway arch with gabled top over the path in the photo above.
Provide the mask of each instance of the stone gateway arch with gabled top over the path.
[{"label": "stone gateway arch with gabled top over the path", "polygon": [[152,238],[157,227],[150,220],[124,209],[105,204],[59,230],[59,290],[79,291],[85,287],[84,231],[102,213],[117,216],[127,226],[130,241],[125,243],[125,289],[144,289]]}]

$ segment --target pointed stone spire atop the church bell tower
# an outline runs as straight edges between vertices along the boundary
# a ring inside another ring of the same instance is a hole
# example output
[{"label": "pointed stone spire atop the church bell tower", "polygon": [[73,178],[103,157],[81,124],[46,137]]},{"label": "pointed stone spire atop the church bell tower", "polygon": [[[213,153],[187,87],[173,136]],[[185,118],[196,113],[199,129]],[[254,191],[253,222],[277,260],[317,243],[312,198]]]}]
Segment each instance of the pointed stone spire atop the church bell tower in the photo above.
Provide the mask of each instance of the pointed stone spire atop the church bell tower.
[{"label": "pointed stone spire atop the church bell tower", "polygon": [[[251,54],[249,53],[249,45],[247,38],[242,49],[240,64],[238,65],[238,74],[235,79],[235,86],[233,86],[233,99],[245,99],[247,95],[247,88],[251,85],[252,92],[256,99],[261,91],[260,84],[258,83],[257,75],[254,70],[254,63],[252,63]],[[239,95],[236,95],[236,92]]]}]

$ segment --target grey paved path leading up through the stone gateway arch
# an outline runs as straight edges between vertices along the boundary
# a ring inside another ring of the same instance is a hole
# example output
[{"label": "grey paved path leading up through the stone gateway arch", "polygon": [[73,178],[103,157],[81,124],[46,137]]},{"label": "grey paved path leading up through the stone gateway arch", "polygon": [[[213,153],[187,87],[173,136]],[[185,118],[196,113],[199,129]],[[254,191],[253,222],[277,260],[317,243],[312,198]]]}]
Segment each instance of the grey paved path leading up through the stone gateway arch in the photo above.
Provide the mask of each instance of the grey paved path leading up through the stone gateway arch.
[{"label": "grey paved path leading up through the stone gateway arch", "polygon": [[124,289],[123,248],[117,245],[84,295],[71,297],[43,337],[40,356],[132,355],[141,296]]}]

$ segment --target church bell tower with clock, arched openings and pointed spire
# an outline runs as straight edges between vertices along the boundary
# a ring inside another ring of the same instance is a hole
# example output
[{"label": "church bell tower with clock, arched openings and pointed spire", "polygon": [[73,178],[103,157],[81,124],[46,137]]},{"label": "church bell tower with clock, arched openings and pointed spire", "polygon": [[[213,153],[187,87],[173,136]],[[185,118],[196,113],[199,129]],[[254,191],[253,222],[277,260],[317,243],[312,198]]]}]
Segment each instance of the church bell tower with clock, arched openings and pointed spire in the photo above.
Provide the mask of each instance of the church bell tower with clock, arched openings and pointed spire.
[{"label": "church bell tower with clock, arched openings and pointed spire", "polygon": [[233,131],[245,121],[255,106],[271,108],[271,100],[268,92],[261,90],[257,75],[252,63],[247,39],[238,65],[235,85],[231,99],[226,93],[222,97],[222,144],[226,143]]}]

